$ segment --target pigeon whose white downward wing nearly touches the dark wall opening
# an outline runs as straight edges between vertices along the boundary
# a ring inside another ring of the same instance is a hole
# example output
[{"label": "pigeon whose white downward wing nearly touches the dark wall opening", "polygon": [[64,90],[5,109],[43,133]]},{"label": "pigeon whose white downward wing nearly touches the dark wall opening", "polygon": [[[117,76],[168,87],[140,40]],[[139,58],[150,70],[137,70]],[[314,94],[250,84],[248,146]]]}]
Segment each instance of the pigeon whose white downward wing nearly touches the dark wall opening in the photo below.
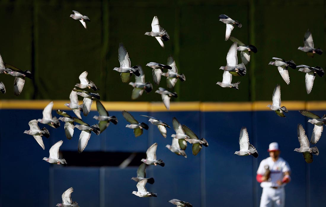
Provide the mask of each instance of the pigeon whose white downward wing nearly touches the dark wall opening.
[{"label": "pigeon whose white downward wing nearly touches the dark wall opening", "polygon": [[72,119],[74,120],[74,122],[81,124],[81,125],[75,125],[75,128],[82,131],[81,134],[79,135],[79,141],[78,141],[78,152],[81,153],[85,149],[88,140],[91,137],[91,131],[93,131],[96,135],[99,135],[101,131],[98,128],[97,124],[90,126],[89,124],[83,122],[82,119],[76,117],[72,117]]}]

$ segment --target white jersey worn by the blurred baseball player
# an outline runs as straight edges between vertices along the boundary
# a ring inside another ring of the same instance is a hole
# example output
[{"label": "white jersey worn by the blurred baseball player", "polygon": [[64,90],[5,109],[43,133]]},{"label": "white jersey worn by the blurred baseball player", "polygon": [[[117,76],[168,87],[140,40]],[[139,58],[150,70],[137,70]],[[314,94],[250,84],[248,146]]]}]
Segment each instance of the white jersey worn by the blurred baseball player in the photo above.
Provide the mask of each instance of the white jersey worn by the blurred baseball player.
[{"label": "white jersey worn by the blurred baseball player", "polygon": [[[283,158],[278,158],[276,162],[272,160],[271,157],[261,160],[257,174],[263,175],[266,172],[265,166],[268,165],[269,170],[271,171],[270,178],[268,181],[261,182],[260,186],[264,187],[279,187],[276,183],[277,180],[283,179],[283,173],[291,171],[290,166],[287,161]],[[282,184],[285,186],[286,184]]]}]

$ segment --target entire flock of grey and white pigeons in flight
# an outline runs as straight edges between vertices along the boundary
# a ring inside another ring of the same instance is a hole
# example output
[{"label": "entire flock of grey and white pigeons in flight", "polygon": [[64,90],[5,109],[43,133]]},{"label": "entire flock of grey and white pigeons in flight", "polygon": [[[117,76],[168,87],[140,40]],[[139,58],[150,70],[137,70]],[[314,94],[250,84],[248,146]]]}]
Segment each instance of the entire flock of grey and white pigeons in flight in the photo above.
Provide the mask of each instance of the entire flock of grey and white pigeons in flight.
[{"label": "entire flock of grey and white pigeons in flight", "polygon": [[[86,21],[90,21],[90,19],[82,15],[81,13],[77,11],[73,11],[74,14],[70,15],[71,18],[75,20],[79,20],[82,25],[87,29],[86,27]],[[245,45],[240,40],[231,37],[231,31],[234,28],[234,25],[238,26],[239,28],[242,27],[242,24],[238,21],[232,20],[230,17],[226,15],[220,15],[219,21],[222,21],[226,24],[226,34],[225,34],[225,40],[232,40],[234,43],[231,45],[229,52],[227,54],[227,65],[220,67],[220,69],[224,70],[223,73],[223,81],[217,82],[221,87],[230,87],[234,89],[238,89],[238,85],[240,82],[237,83],[231,83],[232,81],[232,75],[233,76],[244,76],[246,74],[246,67],[245,65],[249,63],[250,61],[250,51],[256,53],[258,50],[253,45]],[[152,31],[146,32],[145,35],[153,36],[156,38],[156,40],[159,42],[161,47],[164,48],[163,41],[168,41],[170,39],[170,36],[164,30],[162,27],[160,27],[158,18],[155,16],[152,21]],[[309,32],[309,30],[304,35],[304,47],[299,47],[299,50],[302,50],[308,54],[308,56],[313,56],[315,53],[322,54],[322,50],[320,48],[314,48],[314,43],[312,39],[312,35]],[[238,64],[238,58],[237,58],[237,51],[241,51],[241,60],[242,63]],[[129,59],[129,55],[126,51],[126,48],[122,43],[119,45],[118,49],[118,58],[120,62],[120,67],[115,67],[113,70],[120,73],[120,77],[122,79],[122,82],[128,83],[131,85],[134,89],[132,90],[131,99],[137,99],[139,98],[143,91],[145,90],[147,93],[151,92],[153,89],[153,85],[150,82],[145,82],[145,76],[142,71],[142,68],[140,66],[133,66],[131,67],[131,62]],[[324,75],[324,71],[321,67],[309,67],[307,65],[298,65],[290,60],[285,61],[280,58],[273,58],[275,61],[270,62],[269,64],[277,66],[279,73],[281,74],[281,77],[283,80],[289,84],[289,72],[288,72],[288,66],[290,68],[296,69],[299,68],[299,71],[306,73],[306,90],[309,94],[312,90],[313,82],[316,76],[316,73],[319,76]],[[146,64],[146,66],[152,68],[152,74],[153,74],[153,80],[155,85],[159,85],[161,76],[167,77],[167,87],[169,90],[173,90],[176,82],[178,79],[181,81],[185,81],[185,75],[184,74],[178,74],[178,69],[176,67],[175,61],[170,56],[167,61],[167,65],[156,63],[156,62],[149,62]],[[163,70],[167,69],[167,72],[163,73]],[[0,56],[0,74],[7,74],[15,77],[14,80],[14,93],[15,95],[19,95],[22,92],[25,77],[32,78],[30,71],[22,71],[15,66],[12,66],[10,64],[7,64],[2,61],[2,57]],[[135,75],[135,82],[130,82],[132,74]],[[33,119],[29,121],[28,125],[30,126],[30,130],[24,131],[24,133],[32,135],[37,143],[42,147],[42,149],[45,149],[45,146],[42,141],[42,137],[49,138],[50,133],[49,131],[43,127],[42,129],[39,128],[38,122],[42,124],[47,124],[53,128],[60,127],[60,121],[64,122],[64,130],[65,135],[68,140],[72,139],[74,134],[74,129],[77,128],[81,131],[79,136],[79,142],[78,142],[78,152],[81,153],[90,137],[91,132],[94,132],[96,135],[99,135],[101,132],[103,132],[112,122],[113,124],[117,124],[118,120],[115,116],[109,116],[109,113],[104,108],[103,104],[99,101],[100,95],[99,93],[94,93],[87,91],[87,89],[91,89],[93,91],[99,90],[94,82],[87,79],[88,73],[85,71],[80,76],[80,83],[76,84],[75,87],[72,89],[69,99],[70,103],[65,104],[68,108],[72,109],[73,113],[76,115],[76,117],[72,117],[68,115],[66,112],[61,110],[56,110],[56,113],[60,115],[61,117],[52,117],[52,107],[53,102],[49,103],[43,110],[43,117],[41,119]],[[79,89],[77,89],[77,88]],[[86,90],[82,90],[86,89]],[[156,90],[156,93],[159,93],[162,97],[162,101],[167,109],[170,108],[170,97],[177,97],[177,94],[175,92],[171,92],[169,90],[166,90],[164,88],[159,87],[158,90]],[[0,91],[2,93],[6,92],[5,86],[2,82],[0,82]],[[81,96],[83,98],[82,104],[79,104],[78,96]],[[87,116],[90,112],[91,105],[93,104],[93,100],[96,100],[96,108],[98,111],[99,116],[94,116],[93,118],[98,121],[97,124],[90,125],[85,123],[82,120],[81,112],[83,112],[83,116]],[[274,110],[275,113],[280,117],[285,117],[284,112],[288,113],[288,110],[285,106],[281,107],[281,88],[280,85],[277,85],[273,92],[273,104],[268,105],[268,107],[271,110]],[[322,117],[319,117],[309,111],[301,110],[301,114],[303,114],[306,117],[310,117],[308,122],[314,124],[314,130],[311,137],[311,144],[316,144],[321,136],[321,132],[323,130],[323,124],[326,125],[326,115],[323,115]],[[126,119],[127,122],[130,124],[127,124],[126,127],[133,129],[135,137],[141,136],[143,133],[143,129],[148,130],[149,126],[142,122],[139,123],[129,112],[122,111],[123,117]],[[158,130],[162,134],[164,138],[167,137],[167,129],[166,127],[170,128],[170,126],[165,123],[164,121],[161,121],[155,117],[150,117],[146,115],[141,115],[143,117],[148,118],[148,122],[152,123],[153,125],[157,126]],[[60,121],[59,121],[60,120]],[[184,124],[180,124],[180,122],[177,120],[177,118],[172,118],[172,125],[173,129],[176,132],[175,134],[172,134],[172,144],[166,145],[166,147],[173,153],[177,155],[182,155],[185,158],[187,158],[187,155],[185,153],[185,149],[187,147],[187,143],[192,144],[192,153],[193,155],[197,155],[200,150],[202,149],[202,145],[207,147],[208,142],[204,138],[199,138],[191,129],[189,129]],[[296,148],[295,151],[301,152],[304,155],[304,159],[307,163],[311,163],[313,161],[312,154],[318,155],[318,148],[309,146],[309,141],[307,136],[305,135],[305,131],[301,124],[298,124],[298,139],[300,142],[300,148]],[[67,162],[65,159],[59,159],[59,148],[63,144],[63,141],[60,140],[59,142],[55,143],[49,150],[50,156],[49,158],[43,158],[43,160],[52,163],[52,164],[62,164],[67,165]],[[239,145],[240,145],[240,151],[236,151],[234,154],[240,155],[240,156],[246,156],[246,155],[252,155],[255,158],[258,157],[258,152],[256,148],[249,143],[249,136],[248,131],[245,127],[243,127],[240,131],[239,136]],[[137,182],[137,189],[138,191],[133,191],[132,194],[135,194],[139,197],[157,197],[156,193],[148,192],[145,188],[146,183],[154,184],[154,178],[146,178],[146,166],[147,165],[160,165],[164,167],[165,163],[161,159],[156,159],[156,148],[157,143],[154,143],[151,145],[147,151],[146,151],[146,159],[141,159],[142,164],[139,166],[137,170],[137,177],[132,177],[132,180]],[[61,207],[78,207],[78,204],[76,201],[72,201],[71,199],[71,193],[73,192],[73,188],[67,189],[62,194],[62,203],[57,204],[57,206]],[[191,207],[192,205],[188,202],[184,202],[177,199],[172,199],[169,201],[170,203],[177,205],[177,206],[187,206]]]}]

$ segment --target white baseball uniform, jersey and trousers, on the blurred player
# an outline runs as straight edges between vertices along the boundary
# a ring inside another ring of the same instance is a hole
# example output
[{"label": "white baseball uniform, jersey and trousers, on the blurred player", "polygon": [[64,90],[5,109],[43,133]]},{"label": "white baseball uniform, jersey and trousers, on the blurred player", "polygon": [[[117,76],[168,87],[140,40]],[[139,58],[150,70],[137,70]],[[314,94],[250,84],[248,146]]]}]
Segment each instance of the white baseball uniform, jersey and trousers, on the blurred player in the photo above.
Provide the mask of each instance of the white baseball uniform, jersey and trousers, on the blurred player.
[{"label": "white baseball uniform, jersey and trousers, on the blurred player", "polygon": [[279,186],[276,181],[283,179],[283,173],[291,171],[287,161],[283,158],[278,158],[276,162],[271,157],[261,160],[257,174],[264,175],[266,172],[265,166],[268,165],[271,173],[268,181],[261,182],[260,186],[263,188],[260,199],[260,207],[284,207],[285,191],[283,183]]}]

